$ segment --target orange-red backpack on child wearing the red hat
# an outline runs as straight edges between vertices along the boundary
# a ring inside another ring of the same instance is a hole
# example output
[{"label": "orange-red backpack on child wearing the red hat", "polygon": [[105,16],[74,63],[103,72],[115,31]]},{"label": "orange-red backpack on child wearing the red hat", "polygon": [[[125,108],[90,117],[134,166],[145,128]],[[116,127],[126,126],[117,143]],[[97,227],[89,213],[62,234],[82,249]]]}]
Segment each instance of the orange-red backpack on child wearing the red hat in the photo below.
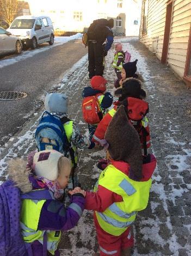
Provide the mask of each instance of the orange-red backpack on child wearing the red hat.
[{"label": "orange-red backpack on child wearing the red hat", "polygon": [[97,96],[85,97],[82,101],[83,118],[88,124],[98,124],[103,118]]}]

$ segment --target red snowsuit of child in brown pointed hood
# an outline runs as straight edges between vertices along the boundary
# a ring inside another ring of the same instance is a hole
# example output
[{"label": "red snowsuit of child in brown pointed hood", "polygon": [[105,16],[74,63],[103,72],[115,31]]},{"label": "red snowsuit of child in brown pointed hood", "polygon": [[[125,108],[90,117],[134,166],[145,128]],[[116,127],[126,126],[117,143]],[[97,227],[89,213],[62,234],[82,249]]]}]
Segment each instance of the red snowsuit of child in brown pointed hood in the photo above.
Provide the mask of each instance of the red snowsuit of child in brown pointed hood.
[{"label": "red snowsuit of child in brown pointed hood", "polygon": [[[114,167],[119,169],[121,172],[126,175],[129,174],[130,165],[122,161],[111,160],[111,164]],[[146,181],[151,178],[151,175],[156,167],[156,159],[151,155],[151,162],[143,164],[143,176],[144,178],[141,181]],[[118,194],[108,190],[107,188],[98,185],[97,192],[87,191],[85,197],[85,209],[94,210],[98,212],[103,212],[114,202],[122,202],[122,197]],[[94,213],[94,222],[97,232],[97,239],[99,246],[103,251],[117,251],[112,254],[113,256],[120,256],[121,249],[126,249],[133,246],[133,235],[131,235],[131,227],[129,227],[124,233],[120,236],[113,236],[104,231],[98,224],[96,215]],[[108,255],[104,253],[101,249],[101,256]]]}]

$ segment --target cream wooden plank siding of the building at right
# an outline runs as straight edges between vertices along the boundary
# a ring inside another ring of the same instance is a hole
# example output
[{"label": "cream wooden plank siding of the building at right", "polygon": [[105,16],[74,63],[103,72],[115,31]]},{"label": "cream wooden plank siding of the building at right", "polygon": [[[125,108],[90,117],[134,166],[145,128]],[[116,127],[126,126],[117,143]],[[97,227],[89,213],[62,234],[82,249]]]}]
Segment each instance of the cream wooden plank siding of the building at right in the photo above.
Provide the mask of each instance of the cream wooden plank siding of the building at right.
[{"label": "cream wooden plank siding of the building at right", "polygon": [[[150,0],[147,15],[147,33],[142,35],[140,28],[140,41],[148,47],[150,51],[152,51],[152,41],[156,40],[153,38],[158,38],[156,56],[159,59],[161,59],[163,50],[167,2],[168,0]],[[190,0],[174,0],[172,6],[168,64],[180,77],[183,77],[186,64],[190,23]]]}]

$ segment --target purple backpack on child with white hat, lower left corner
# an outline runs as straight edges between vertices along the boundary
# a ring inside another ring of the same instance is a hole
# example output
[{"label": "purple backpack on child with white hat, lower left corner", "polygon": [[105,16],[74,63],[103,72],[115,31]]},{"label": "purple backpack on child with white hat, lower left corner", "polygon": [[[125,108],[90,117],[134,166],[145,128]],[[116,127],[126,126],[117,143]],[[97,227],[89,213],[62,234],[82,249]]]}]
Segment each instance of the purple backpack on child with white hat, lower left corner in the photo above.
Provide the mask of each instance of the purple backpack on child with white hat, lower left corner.
[{"label": "purple backpack on child with white hat, lower left corner", "polygon": [[0,256],[26,255],[20,225],[21,199],[52,199],[47,190],[43,194],[34,192],[21,194],[11,180],[0,186]]}]

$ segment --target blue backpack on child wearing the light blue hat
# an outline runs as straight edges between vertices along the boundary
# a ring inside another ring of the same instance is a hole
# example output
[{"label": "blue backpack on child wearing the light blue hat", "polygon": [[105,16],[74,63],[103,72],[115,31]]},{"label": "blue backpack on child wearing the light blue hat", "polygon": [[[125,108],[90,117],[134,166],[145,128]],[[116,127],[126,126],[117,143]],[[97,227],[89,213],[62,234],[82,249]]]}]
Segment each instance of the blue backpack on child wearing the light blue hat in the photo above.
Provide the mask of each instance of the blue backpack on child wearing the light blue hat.
[{"label": "blue backpack on child wearing the light blue hat", "polygon": [[39,151],[54,149],[64,153],[70,147],[60,118],[47,111],[42,114],[36,128],[35,141]]}]

